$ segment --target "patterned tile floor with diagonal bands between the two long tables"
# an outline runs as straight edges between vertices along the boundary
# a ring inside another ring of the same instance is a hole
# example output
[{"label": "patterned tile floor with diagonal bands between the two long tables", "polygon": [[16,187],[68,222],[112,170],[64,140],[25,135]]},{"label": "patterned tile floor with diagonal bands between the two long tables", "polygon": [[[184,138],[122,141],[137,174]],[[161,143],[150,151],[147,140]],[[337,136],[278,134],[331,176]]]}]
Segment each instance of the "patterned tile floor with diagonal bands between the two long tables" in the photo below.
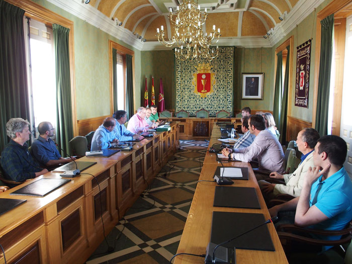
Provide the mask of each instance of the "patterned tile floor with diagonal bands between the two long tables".
[{"label": "patterned tile floor with diagonal bands between the two long tables", "polygon": [[115,251],[102,253],[107,250],[103,241],[87,264],[169,262],[179,246],[208,142],[180,140],[180,147],[150,190],[107,235],[109,245],[115,243]]}]

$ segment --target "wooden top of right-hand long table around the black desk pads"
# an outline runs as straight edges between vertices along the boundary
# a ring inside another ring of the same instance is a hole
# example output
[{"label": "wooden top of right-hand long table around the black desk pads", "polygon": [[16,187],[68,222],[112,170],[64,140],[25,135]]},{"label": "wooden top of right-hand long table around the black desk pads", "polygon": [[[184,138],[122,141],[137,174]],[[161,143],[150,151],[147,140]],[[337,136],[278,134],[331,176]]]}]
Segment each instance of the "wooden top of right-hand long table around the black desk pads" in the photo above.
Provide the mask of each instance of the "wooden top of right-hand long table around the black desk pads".
[{"label": "wooden top of right-hand long table around the black desk pads", "polygon": [[[214,125],[209,147],[214,143],[221,143],[216,139],[217,137],[220,137],[220,129]],[[217,184],[215,182],[199,182],[197,184],[196,192],[193,197],[192,205],[188,214],[177,253],[206,253],[206,247],[210,241],[211,236],[212,214],[214,211],[260,213],[263,214],[266,219],[270,218],[269,211],[261,195],[259,186],[256,182],[250,164],[247,162],[223,162],[223,164],[224,166],[248,168],[248,181],[233,180],[234,185],[227,186],[227,188],[254,188],[257,193],[261,209],[213,207],[215,187]],[[212,181],[217,166],[221,166],[221,164],[216,161],[216,154],[207,152],[199,180]],[[274,225],[271,223],[267,226],[275,246],[275,251],[271,252],[236,249],[236,263],[288,263]],[[234,226],[233,228],[236,227]],[[175,257],[174,263],[204,263],[204,258],[190,255],[179,255]]]}]

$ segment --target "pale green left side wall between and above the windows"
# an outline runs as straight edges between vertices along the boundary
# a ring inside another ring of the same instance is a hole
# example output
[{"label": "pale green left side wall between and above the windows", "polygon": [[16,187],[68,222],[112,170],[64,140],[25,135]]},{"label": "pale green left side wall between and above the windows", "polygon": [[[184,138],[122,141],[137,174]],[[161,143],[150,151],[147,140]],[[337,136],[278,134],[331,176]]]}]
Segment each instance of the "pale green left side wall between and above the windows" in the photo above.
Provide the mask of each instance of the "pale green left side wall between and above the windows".
[{"label": "pale green left side wall between and above the windows", "polygon": [[134,51],[138,107],[141,52],[47,1],[33,2],[73,22],[77,120],[110,114],[109,40]]}]

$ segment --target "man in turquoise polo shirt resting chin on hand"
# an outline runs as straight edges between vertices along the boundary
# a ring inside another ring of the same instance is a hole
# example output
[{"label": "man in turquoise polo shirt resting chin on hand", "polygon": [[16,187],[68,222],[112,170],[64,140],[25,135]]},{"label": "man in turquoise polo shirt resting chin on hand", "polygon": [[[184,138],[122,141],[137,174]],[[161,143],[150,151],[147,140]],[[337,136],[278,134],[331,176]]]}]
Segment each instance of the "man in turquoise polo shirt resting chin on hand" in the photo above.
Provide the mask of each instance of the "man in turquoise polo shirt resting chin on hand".
[{"label": "man in turquoise polo shirt resting chin on hand", "polygon": [[[341,230],[352,219],[352,182],[343,167],[346,142],[334,135],[318,139],[313,152],[315,167],[305,175],[299,197],[269,209],[272,216],[296,210],[295,225],[322,230]],[[287,222],[287,221],[286,221]],[[335,240],[330,236],[324,239]]]}]

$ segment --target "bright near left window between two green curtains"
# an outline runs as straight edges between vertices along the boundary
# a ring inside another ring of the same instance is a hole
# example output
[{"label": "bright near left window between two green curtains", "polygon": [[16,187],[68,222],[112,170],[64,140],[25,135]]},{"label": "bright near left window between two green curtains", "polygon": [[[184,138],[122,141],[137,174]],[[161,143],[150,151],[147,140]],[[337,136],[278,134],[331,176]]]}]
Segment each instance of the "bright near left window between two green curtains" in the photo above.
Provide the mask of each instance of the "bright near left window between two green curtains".
[{"label": "bright near left window between two green curtains", "polygon": [[32,140],[38,136],[38,124],[49,121],[56,127],[56,79],[52,28],[26,19],[28,59],[28,92]]}]

